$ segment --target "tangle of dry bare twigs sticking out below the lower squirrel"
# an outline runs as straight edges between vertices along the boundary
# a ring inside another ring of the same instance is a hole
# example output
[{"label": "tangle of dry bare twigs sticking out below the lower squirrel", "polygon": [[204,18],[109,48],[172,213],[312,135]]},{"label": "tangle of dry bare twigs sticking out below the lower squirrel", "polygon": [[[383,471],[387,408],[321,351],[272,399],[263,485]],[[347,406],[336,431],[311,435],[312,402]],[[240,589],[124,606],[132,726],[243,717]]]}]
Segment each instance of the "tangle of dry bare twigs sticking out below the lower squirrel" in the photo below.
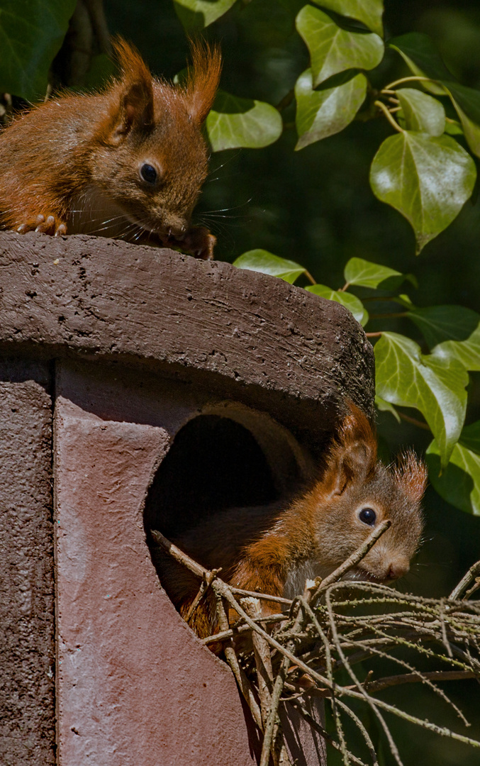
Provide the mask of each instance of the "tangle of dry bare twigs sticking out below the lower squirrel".
[{"label": "tangle of dry bare twigs sticking out below the lower squirrel", "polygon": [[[274,766],[291,764],[279,719],[279,705],[286,701],[328,744],[341,751],[347,766],[365,764],[348,747],[345,716],[361,733],[369,761],[377,764],[371,736],[348,704],[355,700],[361,700],[371,709],[399,766],[402,761],[384,712],[439,735],[480,747],[480,742],[475,739],[420,719],[375,696],[389,686],[423,683],[449,703],[462,722],[469,725],[438,683],[452,679],[480,679],[480,603],[466,601],[480,588],[480,561],[467,572],[452,594],[442,599],[404,594],[374,582],[341,579],[364,558],[389,525],[390,522],[380,525],[357,552],[323,581],[307,581],[305,592],[293,601],[233,588],[222,581],[216,571],[207,571],[159,532],[152,532],[158,544],[199,578],[198,596],[187,620],[194,614],[207,589],[214,591],[220,630],[203,643],[217,646],[221,642],[223,645],[225,659],[237,679],[253,721],[263,734],[260,766],[268,766],[271,761]],[[283,613],[262,617],[260,604],[263,599],[278,601],[279,611],[283,609]],[[233,626],[227,617],[229,609],[238,615]],[[245,635],[251,637],[247,650],[245,640],[239,640]],[[424,672],[416,667],[415,659],[407,661],[403,656],[396,656],[397,650],[409,650],[417,659],[433,661],[438,669]],[[354,666],[368,658],[390,660],[402,672],[373,679],[370,671],[362,680]],[[349,679],[344,685],[336,680],[341,669],[346,671]],[[307,709],[305,702],[314,696],[330,703],[336,735],[326,732]]]}]

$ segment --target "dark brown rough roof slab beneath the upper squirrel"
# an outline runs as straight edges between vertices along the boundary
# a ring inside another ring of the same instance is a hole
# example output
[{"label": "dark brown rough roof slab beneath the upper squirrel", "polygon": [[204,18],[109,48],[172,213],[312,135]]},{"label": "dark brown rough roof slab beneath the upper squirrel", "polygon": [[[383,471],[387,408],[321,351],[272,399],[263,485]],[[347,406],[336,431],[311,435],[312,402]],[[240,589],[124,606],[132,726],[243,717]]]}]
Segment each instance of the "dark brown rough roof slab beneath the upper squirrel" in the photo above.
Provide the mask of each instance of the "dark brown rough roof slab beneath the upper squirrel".
[{"label": "dark brown rough roof slab beneath the upper squirrel", "polygon": [[331,416],[344,394],[373,414],[374,357],[361,326],[282,280],[81,235],[0,233],[0,267],[8,348],[168,368],[233,398],[253,388],[270,412],[287,394],[307,430],[318,401]]}]

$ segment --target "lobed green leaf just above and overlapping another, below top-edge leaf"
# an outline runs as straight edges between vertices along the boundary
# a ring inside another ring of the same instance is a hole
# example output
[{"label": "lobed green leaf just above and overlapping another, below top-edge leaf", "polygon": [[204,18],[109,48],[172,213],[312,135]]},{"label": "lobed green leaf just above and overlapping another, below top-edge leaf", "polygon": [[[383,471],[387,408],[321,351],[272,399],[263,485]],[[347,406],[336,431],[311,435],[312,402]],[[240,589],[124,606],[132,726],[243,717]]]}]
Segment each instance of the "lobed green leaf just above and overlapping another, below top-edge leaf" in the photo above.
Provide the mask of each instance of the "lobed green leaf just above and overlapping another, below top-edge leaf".
[{"label": "lobed green leaf just above and overlapping another, below top-edge leaf", "polygon": [[384,57],[384,43],[371,32],[349,32],[323,11],[305,5],[296,28],[309,48],[313,85],[347,69],[373,69]]}]

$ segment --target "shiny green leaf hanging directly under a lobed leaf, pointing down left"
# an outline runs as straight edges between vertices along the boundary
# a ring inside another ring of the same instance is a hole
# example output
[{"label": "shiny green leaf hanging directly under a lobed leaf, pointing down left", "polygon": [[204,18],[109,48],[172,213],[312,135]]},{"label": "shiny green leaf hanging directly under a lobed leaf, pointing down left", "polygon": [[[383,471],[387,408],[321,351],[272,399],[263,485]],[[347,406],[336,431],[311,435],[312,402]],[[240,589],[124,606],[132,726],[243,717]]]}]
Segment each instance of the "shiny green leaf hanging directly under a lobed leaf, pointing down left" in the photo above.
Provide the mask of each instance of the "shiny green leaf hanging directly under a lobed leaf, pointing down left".
[{"label": "shiny green leaf hanging directly under a lobed leaf, pointing down left", "polygon": [[312,70],[307,69],[296,81],[296,149],[340,133],[360,109],[367,93],[363,74],[325,90],[313,90]]}]

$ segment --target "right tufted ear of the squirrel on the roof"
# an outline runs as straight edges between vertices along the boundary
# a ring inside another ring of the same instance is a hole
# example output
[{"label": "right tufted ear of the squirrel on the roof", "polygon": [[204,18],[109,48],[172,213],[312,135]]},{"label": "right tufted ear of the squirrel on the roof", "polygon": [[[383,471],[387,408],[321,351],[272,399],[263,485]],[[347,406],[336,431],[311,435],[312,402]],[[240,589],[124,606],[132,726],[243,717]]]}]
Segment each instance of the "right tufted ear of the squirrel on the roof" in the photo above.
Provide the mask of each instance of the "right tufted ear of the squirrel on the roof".
[{"label": "right tufted ear of the squirrel on the roof", "polygon": [[201,41],[191,41],[192,66],[188,67],[184,100],[194,123],[201,125],[210,112],[220,82],[220,49]]}]

